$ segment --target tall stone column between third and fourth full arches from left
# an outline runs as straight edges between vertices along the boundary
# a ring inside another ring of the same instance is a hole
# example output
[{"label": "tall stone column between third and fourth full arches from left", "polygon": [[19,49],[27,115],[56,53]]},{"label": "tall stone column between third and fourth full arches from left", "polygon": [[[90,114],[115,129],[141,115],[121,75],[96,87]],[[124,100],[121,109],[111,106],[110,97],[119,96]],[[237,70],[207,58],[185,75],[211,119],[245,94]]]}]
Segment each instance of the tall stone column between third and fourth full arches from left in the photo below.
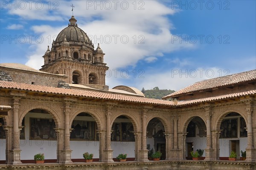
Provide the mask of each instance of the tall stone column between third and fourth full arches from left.
[{"label": "tall stone column between third and fourth full arches from left", "polygon": [[[146,162],[148,160],[148,150],[147,150],[147,127],[146,127],[146,119],[147,119],[147,112],[148,109],[143,109],[140,117],[141,117],[141,124],[142,124],[142,145],[140,150],[140,161]],[[139,150],[139,148],[138,148]]]}]

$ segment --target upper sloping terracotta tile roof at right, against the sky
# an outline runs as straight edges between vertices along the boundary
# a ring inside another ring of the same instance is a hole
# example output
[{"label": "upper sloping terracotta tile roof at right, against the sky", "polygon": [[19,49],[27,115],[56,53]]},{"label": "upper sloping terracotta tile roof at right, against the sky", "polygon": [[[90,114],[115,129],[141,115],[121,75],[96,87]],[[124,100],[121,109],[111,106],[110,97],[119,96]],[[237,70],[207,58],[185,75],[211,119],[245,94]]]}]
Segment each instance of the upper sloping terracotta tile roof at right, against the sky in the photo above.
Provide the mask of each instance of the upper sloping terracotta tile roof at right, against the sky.
[{"label": "upper sloping terracotta tile roof at right, against the sky", "polygon": [[183,89],[180,89],[176,92],[173,92],[170,95],[166,95],[163,97],[163,99],[173,98],[173,97],[190,93],[190,92],[212,89],[212,88],[221,87],[221,86],[228,86],[228,85],[238,84],[238,83],[252,81],[252,80],[256,80],[256,69],[247,71],[247,72],[233,74],[233,75],[227,75],[219,78],[212,78],[205,81],[199,81]]}]

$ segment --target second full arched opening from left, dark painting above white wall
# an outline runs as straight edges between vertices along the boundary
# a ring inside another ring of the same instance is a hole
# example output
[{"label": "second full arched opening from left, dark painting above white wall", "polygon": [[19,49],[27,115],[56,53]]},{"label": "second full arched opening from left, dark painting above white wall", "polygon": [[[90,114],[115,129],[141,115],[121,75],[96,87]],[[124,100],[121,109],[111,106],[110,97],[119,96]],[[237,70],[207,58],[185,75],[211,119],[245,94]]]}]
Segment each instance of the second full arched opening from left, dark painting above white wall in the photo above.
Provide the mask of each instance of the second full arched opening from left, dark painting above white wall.
[{"label": "second full arched opening from left, dark painting above white wall", "polygon": [[84,161],[83,153],[93,153],[93,161],[99,161],[99,135],[95,119],[86,112],[81,112],[72,121],[70,149],[72,161]]}]

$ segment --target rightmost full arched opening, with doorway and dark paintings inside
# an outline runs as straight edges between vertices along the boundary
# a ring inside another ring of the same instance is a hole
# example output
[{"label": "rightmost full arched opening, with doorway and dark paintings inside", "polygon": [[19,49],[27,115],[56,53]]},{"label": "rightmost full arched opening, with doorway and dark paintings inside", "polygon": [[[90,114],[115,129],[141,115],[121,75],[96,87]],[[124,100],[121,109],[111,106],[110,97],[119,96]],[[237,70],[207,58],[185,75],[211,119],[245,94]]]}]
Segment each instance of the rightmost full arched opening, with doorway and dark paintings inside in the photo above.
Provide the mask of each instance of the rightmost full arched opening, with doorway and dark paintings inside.
[{"label": "rightmost full arched opening, with doorway and dark paintings inside", "polygon": [[240,151],[245,151],[247,147],[247,131],[244,118],[237,112],[230,112],[221,118],[219,130],[219,158],[220,160],[228,160],[233,150],[238,160],[240,159]]}]

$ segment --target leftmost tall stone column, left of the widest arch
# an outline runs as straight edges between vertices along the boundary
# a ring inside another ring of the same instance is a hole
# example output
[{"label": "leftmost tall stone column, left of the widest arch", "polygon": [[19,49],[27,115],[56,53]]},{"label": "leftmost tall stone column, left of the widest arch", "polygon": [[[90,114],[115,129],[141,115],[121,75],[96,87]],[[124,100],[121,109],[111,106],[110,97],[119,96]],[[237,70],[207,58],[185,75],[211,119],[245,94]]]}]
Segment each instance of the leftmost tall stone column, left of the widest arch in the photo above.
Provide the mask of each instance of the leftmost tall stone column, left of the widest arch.
[{"label": "leftmost tall stone column, left of the widest arch", "polygon": [[11,150],[11,164],[21,164],[20,161],[20,130],[19,130],[19,104],[20,98],[13,98],[13,142]]}]

